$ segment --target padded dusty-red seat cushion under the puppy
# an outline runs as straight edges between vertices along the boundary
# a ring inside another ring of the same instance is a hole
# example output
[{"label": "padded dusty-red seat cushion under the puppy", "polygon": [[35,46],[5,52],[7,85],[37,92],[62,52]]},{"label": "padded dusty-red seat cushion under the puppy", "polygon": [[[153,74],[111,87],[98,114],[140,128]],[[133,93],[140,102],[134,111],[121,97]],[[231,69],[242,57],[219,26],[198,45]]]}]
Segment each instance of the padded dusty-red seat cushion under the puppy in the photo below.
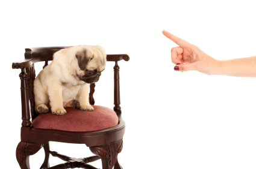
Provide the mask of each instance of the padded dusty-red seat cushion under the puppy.
[{"label": "padded dusty-red seat cushion under the puppy", "polygon": [[96,131],[118,124],[114,110],[100,105],[92,105],[94,111],[82,111],[77,108],[65,108],[67,114],[56,116],[51,113],[39,114],[33,120],[34,128],[58,129],[62,131]]}]

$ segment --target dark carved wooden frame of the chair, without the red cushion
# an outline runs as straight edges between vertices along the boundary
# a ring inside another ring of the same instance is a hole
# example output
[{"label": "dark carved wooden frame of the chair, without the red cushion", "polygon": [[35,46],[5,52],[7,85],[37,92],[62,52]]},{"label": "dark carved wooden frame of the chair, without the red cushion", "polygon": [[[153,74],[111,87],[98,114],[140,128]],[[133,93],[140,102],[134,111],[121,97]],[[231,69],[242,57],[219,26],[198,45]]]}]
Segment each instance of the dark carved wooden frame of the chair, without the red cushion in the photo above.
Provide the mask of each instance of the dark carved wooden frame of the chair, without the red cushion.
[{"label": "dark carved wooden frame of the chair, without the red cushion", "polygon": [[[34,128],[33,125],[31,125],[30,118],[33,121],[37,117],[41,116],[41,114],[38,115],[35,111],[33,88],[36,74],[34,70],[34,64],[36,62],[45,62],[45,65],[43,67],[45,68],[48,65],[48,61],[52,61],[53,54],[63,48],[67,47],[33,47],[30,49],[25,49],[25,59],[19,62],[14,62],[12,65],[13,69],[21,69],[19,77],[21,83],[20,90],[22,101],[22,126],[20,132],[21,141],[17,145],[16,149],[17,162],[19,162],[20,168],[30,169],[30,155],[34,155],[43,147],[43,149],[45,150],[45,161],[40,168],[95,168],[87,163],[101,159],[103,169],[110,169],[113,167],[114,169],[120,169],[122,167],[117,161],[117,155],[122,151],[123,147],[122,138],[123,134],[125,133],[125,122],[123,121],[121,116],[119,66],[117,62],[122,60],[129,61],[130,58],[128,55],[107,55],[107,61],[115,62],[113,110],[115,111],[119,119],[119,122],[116,126],[101,129],[98,131],[73,132],[61,131],[56,129]],[[95,104],[95,101],[93,99],[94,92],[95,83],[92,83],[90,85],[89,96],[91,105]],[[90,156],[89,158],[80,159],[70,158],[57,152],[50,151],[49,141],[86,144],[86,146],[90,147],[90,150],[96,156]],[[58,158],[63,159],[64,161],[66,161],[66,163],[50,167],[50,153],[53,156],[57,156]]]}]

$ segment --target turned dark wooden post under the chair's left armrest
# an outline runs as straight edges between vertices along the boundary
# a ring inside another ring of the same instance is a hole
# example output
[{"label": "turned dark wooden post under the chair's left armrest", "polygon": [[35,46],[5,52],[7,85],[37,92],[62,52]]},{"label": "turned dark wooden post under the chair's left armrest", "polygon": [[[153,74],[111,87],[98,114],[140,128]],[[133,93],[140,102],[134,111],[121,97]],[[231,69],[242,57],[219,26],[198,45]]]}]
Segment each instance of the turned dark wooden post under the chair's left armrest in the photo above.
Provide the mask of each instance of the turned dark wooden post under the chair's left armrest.
[{"label": "turned dark wooden post under the chair's left armrest", "polygon": [[21,94],[21,109],[22,109],[22,126],[30,126],[30,104],[28,100],[28,74],[25,73],[25,68],[22,68],[20,77],[20,94]]}]

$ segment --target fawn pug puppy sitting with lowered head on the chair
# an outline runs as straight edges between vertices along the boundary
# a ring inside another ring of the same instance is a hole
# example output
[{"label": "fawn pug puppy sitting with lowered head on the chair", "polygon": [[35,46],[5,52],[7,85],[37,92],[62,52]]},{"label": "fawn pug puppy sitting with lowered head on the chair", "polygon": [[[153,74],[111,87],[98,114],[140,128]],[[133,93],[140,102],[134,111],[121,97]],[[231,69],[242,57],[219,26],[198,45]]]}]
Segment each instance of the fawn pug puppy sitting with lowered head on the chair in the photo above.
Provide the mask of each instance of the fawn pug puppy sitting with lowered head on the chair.
[{"label": "fawn pug puppy sitting with lowered head on the chair", "polygon": [[34,80],[37,113],[63,115],[63,107],[93,111],[89,103],[90,83],[98,82],[107,62],[101,46],[74,46],[54,53],[53,61]]}]

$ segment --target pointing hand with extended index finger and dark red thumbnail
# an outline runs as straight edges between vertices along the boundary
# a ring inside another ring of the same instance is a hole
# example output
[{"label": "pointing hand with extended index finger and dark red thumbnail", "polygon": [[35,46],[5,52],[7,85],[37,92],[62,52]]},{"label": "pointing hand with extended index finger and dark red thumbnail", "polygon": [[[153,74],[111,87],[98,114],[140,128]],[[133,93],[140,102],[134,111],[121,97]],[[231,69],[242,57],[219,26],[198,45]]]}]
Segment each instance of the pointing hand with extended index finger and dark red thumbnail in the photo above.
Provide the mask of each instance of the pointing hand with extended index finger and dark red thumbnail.
[{"label": "pointing hand with extended index finger and dark red thumbnail", "polygon": [[163,31],[164,36],[178,44],[178,47],[173,47],[171,58],[175,71],[199,71],[204,74],[218,74],[220,62],[206,53],[202,52],[198,47],[181,38],[175,37],[167,31]]}]

